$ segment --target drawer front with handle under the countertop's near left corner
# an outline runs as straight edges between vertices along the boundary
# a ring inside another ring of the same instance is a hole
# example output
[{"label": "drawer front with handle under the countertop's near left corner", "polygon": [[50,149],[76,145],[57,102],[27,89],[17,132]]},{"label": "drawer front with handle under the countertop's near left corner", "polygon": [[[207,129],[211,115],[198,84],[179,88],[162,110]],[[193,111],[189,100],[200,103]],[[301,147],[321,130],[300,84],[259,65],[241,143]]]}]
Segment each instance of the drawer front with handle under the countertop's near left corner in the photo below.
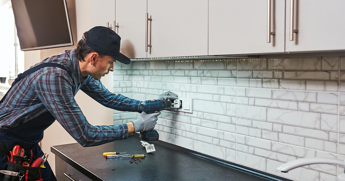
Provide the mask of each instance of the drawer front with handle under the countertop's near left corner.
[{"label": "drawer front with handle under the countertop's near left corner", "polygon": [[77,169],[61,160],[59,157],[55,157],[55,172],[57,179],[59,177],[59,179],[62,181],[92,181]]}]

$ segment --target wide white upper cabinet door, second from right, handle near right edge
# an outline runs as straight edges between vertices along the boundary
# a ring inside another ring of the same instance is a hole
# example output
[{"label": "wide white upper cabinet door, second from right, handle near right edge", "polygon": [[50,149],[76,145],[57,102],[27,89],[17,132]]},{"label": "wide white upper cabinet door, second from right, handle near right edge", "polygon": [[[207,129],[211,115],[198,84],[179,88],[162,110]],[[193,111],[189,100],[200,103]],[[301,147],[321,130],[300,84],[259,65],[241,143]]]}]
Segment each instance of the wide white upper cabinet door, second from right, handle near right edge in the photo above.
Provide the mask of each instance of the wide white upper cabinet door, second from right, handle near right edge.
[{"label": "wide white upper cabinet door, second from right, handle near right edge", "polygon": [[[210,0],[208,3],[209,55],[284,52],[284,0]],[[267,42],[268,15],[270,32],[275,33],[270,36],[270,43]]]}]

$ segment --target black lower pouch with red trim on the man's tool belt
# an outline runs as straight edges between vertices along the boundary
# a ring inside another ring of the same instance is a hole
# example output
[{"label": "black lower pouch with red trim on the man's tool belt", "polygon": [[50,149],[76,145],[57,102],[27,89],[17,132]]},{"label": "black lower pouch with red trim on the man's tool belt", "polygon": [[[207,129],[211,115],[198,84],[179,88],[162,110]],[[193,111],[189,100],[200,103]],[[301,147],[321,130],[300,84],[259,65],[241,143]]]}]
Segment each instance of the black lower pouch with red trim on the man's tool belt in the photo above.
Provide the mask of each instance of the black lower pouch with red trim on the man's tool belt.
[{"label": "black lower pouch with red trim on the man's tool belt", "polygon": [[[24,167],[20,164],[9,162],[8,171],[18,172],[17,176],[12,177],[12,181],[42,181],[40,167]],[[9,175],[5,175],[9,176]]]}]

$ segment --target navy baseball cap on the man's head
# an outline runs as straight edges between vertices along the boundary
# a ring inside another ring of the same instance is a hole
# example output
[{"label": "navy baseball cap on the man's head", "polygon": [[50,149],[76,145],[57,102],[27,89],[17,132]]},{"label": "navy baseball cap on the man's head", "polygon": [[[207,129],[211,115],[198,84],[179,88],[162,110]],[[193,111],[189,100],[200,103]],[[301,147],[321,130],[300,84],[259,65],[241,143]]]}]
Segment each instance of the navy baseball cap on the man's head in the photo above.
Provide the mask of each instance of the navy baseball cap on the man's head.
[{"label": "navy baseball cap on the man's head", "polygon": [[97,26],[87,32],[85,44],[121,63],[130,64],[130,59],[120,53],[120,40],[121,37],[115,31],[107,27]]}]

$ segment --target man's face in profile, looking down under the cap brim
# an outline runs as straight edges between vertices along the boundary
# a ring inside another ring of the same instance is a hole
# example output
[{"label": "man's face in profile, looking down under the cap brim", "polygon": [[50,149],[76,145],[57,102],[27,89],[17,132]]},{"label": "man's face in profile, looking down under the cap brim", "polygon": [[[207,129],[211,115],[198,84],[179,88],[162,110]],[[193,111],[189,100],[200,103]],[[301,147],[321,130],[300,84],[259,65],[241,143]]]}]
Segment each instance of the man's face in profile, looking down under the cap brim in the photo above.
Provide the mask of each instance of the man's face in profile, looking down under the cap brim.
[{"label": "man's face in profile, looking down under the cap brim", "polygon": [[95,63],[90,68],[90,75],[96,80],[100,80],[103,76],[114,71],[114,62],[116,60],[110,56],[100,57],[97,56]]}]

